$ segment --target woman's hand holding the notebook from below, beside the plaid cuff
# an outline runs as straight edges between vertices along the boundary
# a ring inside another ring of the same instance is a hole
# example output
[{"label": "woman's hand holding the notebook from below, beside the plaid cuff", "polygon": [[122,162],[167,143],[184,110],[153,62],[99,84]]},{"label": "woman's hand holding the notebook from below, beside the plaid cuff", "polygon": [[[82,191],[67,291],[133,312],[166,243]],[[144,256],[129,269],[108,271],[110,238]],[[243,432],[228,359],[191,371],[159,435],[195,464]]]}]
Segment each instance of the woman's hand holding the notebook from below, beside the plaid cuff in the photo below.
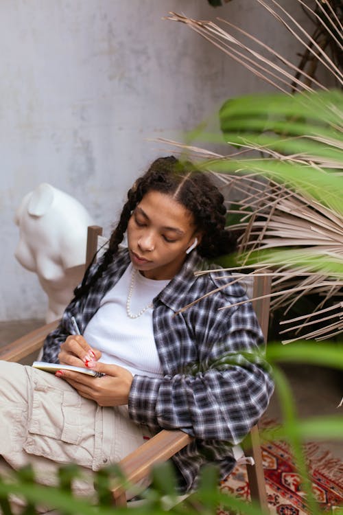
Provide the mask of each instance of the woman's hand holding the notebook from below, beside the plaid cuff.
[{"label": "woman's hand holding the notebook from below, beside the plaid cuff", "polygon": [[130,371],[118,365],[106,365],[99,361],[93,365],[92,369],[106,375],[92,377],[80,372],[61,370],[56,372],[56,376],[69,382],[69,385],[75,388],[80,396],[95,400],[99,406],[128,404],[133,380]]}]

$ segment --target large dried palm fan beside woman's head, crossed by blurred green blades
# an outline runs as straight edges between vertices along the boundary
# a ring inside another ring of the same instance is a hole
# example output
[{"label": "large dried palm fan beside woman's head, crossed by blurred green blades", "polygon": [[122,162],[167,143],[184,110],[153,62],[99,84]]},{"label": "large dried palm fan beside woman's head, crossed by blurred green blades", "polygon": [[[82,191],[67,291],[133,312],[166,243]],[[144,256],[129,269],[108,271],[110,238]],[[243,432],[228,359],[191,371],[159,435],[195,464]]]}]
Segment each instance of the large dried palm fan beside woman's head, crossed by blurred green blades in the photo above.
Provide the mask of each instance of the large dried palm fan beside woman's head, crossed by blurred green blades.
[{"label": "large dried palm fan beside woman's head, crossed by blurred green blades", "polygon": [[[241,104],[245,104],[245,100],[241,98]],[[187,151],[192,159],[202,159],[200,165],[220,181],[230,214],[238,217],[235,223],[230,223],[230,229],[241,233],[242,271],[252,264],[257,269],[254,273],[263,273],[263,268],[272,269],[272,310],[282,307],[287,316],[305,295],[318,298],[316,308],[303,316],[300,325],[298,318],[287,321],[287,331],[295,334],[285,342],[300,337],[322,339],[342,332],[343,303],[338,302],[343,286],[341,167],[328,174],[318,165],[311,170],[309,186],[308,178],[304,177],[307,164],[293,155],[237,159],[237,152],[229,156],[213,152],[206,155],[206,150],[195,146],[160,141],[180,148],[181,152]],[[275,179],[284,179],[278,182],[271,177],[280,162],[287,168],[274,174]],[[256,168],[260,168],[260,172]],[[333,183],[332,179],[335,179]],[[322,190],[325,193],[320,203]],[[236,208],[232,207],[233,201]],[[278,252],[274,252],[275,249]]]}]

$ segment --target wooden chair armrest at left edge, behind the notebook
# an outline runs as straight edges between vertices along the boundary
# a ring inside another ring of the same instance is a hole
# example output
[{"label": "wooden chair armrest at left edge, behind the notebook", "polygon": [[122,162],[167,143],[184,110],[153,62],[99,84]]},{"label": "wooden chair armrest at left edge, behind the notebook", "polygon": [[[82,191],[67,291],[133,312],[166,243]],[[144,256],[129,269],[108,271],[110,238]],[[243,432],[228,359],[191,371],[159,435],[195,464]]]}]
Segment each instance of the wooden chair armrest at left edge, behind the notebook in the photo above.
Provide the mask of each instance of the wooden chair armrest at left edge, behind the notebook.
[{"label": "wooden chair armrest at left edge, behind the notebook", "polygon": [[3,345],[0,349],[0,359],[3,361],[19,361],[25,356],[29,356],[42,347],[44,340],[58,325],[58,320],[42,325],[42,327],[35,329],[18,340],[12,341],[7,345]]}]

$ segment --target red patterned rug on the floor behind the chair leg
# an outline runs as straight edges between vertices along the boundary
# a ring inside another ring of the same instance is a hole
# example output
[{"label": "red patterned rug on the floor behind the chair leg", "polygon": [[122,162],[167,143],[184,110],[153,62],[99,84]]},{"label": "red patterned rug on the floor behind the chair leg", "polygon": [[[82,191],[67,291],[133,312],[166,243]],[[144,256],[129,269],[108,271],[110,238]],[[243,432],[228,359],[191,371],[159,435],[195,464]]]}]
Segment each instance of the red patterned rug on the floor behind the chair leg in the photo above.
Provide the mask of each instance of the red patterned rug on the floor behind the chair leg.
[{"label": "red patterned rug on the floor behind the chair leg", "polygon": [[[272,515],[310,515],[301,489],[289,448],[283,442],[262,446],[263,468]],[[338,513],[343,507],[343,464],[316,444],[307,444],[305,454],[314,495],[320,509],[328,514]],[[237,466],[223,481],[222,490],[249,499],[249,485],[245,466]],[[228,512],[218,510],[218,515]],[[342,512],[341,512],[342,513]]]}]

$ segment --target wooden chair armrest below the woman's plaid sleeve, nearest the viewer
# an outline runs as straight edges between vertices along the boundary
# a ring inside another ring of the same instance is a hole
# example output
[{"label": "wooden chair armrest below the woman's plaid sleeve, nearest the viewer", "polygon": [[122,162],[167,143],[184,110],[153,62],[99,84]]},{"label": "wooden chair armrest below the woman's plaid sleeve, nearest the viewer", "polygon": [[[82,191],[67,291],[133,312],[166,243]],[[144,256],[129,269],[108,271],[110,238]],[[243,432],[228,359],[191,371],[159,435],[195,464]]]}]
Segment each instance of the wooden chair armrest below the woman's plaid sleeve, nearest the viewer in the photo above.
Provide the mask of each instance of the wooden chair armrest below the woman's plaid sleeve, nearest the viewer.
[{"label": "wooden chair armrest below the woman's plaid sleeve, nearest the viewer", "polygon": [[[154,464],[167,461],[192,440],[193,437],[183,431],[160,431],[119,461],[118,465],[129,483],[138,483],[149,474]],[[126,505],[126,495],[122,485],[117,485],[112,492],[115,505]]]}]

